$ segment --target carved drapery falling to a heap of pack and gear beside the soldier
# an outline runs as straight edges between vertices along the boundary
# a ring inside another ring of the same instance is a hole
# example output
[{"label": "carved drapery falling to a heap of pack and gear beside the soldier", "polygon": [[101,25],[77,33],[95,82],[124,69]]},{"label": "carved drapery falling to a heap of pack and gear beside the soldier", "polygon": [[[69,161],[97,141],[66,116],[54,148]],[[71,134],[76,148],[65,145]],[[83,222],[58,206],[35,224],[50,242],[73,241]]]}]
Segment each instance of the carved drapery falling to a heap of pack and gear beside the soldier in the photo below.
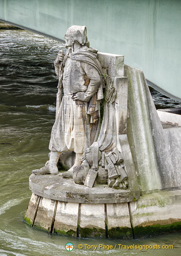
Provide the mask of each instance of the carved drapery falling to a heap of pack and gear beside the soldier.
[{"label": "carved drapery falling to a heap of pack and gear beside the soldier", "polygon": [[115,99],[117,92],[109,75],[104,75],[104,113],[99,137],[82,156],[82,165],[74,168],[73,179],[77,184],[93,187],[108,184],[109,187],[127,189],[128,175],[122,152],[117,145]]}]

